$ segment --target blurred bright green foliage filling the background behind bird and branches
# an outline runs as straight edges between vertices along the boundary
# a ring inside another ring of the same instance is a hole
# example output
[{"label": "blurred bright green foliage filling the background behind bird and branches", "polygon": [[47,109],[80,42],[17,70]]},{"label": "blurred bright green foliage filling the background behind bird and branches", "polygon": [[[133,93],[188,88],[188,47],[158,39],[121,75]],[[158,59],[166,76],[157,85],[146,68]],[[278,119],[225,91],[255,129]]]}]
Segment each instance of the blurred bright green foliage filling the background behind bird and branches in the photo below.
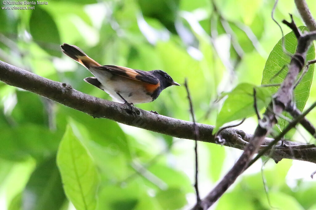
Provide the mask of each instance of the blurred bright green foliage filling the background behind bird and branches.
[{"label": "blurred bright green foliage filling the background behind bird and branches", "polygon": [[[316,3],[307,3],[316,15]],[[83,81],[91,73],[62,55],[60,44],[77,45],[102,65],[161,69],[180,84],[188,78],[198,122],[220,127],[248,117],[242,128],[252,133],[257,123],[253,88],[262,112],[275,90],[259,87],[261,81],[280,82],[270,78],[289,61],[270,18],[274,1],[215,4],[217,10],[209,0],[49,0],[34,10],[0,9],[0,60],[104,99],[110,97]],[[279,2],[276,20],[289,20],[288,13],[297,14],[294,2]],[[291,33],[285,42],[293,53]],[[314,51],[309,49],[308,59]],[[310,67],[295,92],[300,109],[316,99],[313,77]],[[68,209],[70,201],[77,209],[100,210],[194,205],[193,141],[94,119],[2,82],[0,99],[1,209]],[[183,87],[167,88],[137,107],[190,120]],[[316,112],[308,118],[316,122]],[[199,143],[202,196],[232,166],[235,152],[240,151]],[[287,178],[291,160],[267,163],[269,199],[260,165],[237,180],[214,208],[315,209],[316,185]],[[309,177],[299,169],[295,173]]]}]

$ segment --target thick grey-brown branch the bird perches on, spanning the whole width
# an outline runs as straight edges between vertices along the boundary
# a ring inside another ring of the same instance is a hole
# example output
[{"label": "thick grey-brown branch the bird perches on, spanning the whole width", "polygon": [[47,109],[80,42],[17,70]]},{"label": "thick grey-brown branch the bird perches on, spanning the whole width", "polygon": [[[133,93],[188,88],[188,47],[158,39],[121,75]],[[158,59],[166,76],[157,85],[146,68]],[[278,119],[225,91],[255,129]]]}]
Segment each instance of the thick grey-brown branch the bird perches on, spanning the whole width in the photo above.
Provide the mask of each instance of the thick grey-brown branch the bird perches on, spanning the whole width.
[{"label": "thick grey-brown branch the bird perches on, spanning the whole width", "polygon": [[[0,80],[8,85],[39,94],[93,117],[107,118],[177,138],[195,139],[195,132],[192,130],[193,122],[162,115],[157,116],[152,112],[133,107],[133,111],[137,114],[135,116],[131,114],[129,107],[125,104],[84,94],[71,88],[70,85],[40,77],[3,61],[0,61]],[[214,126],[201,123],[196,123],[196,125],[199,132],[199,141],[220,144],[216,142],[214,135],[212,135]],[[225,139],[226,146],[240,150],[243,150],[253,137],[252,134],[234,128],[223,130],[221,136]],[[262,145],[269,145],[273,140],[265,138]],[[301,143],[292,141],[285,141],[284,143],[289,146],[281,146],[281,142],[279,142],[275,150],[272,152],[268,150],[266,154],[272,154],[270,157],[274,160],[287,158],[316,163],[315,146],[306,148],[306,145]]]}]

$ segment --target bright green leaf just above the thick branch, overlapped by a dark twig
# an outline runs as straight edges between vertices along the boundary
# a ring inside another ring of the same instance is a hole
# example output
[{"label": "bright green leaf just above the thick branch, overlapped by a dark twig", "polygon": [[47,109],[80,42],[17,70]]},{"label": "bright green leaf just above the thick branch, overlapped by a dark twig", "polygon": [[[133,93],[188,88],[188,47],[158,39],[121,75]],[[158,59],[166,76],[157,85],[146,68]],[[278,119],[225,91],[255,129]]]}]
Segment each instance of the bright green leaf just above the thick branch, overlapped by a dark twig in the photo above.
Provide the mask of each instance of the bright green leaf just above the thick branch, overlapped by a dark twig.
[{"label": "bright green leaf just above the thick branch, overlapped by a dark twig", "polygon": [[249,117],[255,114],[253,108],[253,88],[257,92],[257,108],[260,111],[263,107],[269,104],[271,93],[267,88],[256,87],[248,83],[237,85],[231,92],[225,93],[228,95],[224,101],[221,111],[217,115],[215,133],[219,127],[226,122]]}]

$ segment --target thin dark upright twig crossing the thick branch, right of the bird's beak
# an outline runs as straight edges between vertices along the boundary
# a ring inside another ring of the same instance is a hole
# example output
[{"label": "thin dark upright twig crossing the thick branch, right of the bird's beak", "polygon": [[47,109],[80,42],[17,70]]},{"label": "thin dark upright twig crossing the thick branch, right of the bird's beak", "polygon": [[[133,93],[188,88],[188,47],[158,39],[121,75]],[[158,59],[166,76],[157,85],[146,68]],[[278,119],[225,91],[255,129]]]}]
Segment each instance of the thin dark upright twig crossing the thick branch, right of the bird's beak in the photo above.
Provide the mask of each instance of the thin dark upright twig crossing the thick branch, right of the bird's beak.
[{"label": "thin dark upright twig crossing the thick branch, right of the bird's beak", "polygon": [[187,83],[187,79],[185,78],[184,81],[184,86],[188,95],[188,100],[189,100],[189,105],[190,105],[190,113],[191,113],[191,117],[192,117],[192,121],[193,121],[193,127],[194,127],[194,133],[195,133],[195,147],[194,147],[194,152],[195,152],[195,183],[194,183],[194,188],[195,188],[195,192],[196,192],[196,196],[197,196],[197,205],[196,205],[196,209],[202,209],[201,207],[201,198],[200,198],[200,194],[198,191],[198,159],[197,159],[197,141],[199,139],[199,131],[195,122],[195,116],[194,116],[194,110],[193,110],[193,105],[192,105],[192,99],[191,99],[191,95],[190,95],[190,91],[189,91],[189,87],[188,87],[188,83]]}]

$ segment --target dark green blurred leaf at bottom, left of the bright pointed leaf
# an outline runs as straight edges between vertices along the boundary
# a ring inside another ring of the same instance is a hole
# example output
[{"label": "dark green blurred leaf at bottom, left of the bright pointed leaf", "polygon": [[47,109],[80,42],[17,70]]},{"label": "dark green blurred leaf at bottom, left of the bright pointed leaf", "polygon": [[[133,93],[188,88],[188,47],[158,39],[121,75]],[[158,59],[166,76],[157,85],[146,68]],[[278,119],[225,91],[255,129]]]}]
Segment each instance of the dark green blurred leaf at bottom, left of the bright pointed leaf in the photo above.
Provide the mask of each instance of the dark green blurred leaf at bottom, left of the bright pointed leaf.
[{"label": "dark green blurred leaf at bottom, left of the bright pointed leaf", "polygon": [[59,209],[65,199],[56,156],[52,156],[32,173],[23,192],[23,209]]}]

